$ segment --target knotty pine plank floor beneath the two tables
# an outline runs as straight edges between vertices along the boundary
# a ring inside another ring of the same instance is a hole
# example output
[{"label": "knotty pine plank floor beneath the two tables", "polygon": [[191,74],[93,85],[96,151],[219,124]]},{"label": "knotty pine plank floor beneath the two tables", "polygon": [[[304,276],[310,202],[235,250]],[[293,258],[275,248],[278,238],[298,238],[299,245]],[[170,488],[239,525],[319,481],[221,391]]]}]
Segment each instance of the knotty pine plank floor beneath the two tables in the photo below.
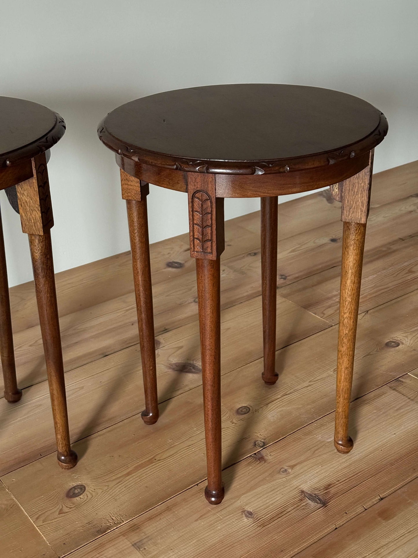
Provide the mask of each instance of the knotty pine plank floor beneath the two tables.
[{"label": "knotty pine plank floor beneath the two tables", "polygon": [[418,556],[418,162],[373,177],[346,456],[332,443],[340,213],[327,191],[279,205],[273,387],[260,378],[260,215],[226,223],[217,507],[203,498],[187,235],[151,247],[161,418],[150,427],[130,254],[56,276],[80,458],[70,471],[56,465],[33,283],[11,289],[24,389],[14,405],[0,398],[2,558]]}]

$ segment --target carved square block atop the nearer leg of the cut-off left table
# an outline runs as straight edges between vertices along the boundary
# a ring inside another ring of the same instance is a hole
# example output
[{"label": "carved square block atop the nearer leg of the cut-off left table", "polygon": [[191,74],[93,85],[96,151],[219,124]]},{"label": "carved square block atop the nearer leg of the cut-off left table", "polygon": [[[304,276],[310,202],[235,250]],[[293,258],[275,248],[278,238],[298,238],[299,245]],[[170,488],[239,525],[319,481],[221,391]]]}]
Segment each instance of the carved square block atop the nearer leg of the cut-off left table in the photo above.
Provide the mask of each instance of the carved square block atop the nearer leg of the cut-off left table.
[{"label": "carved square block atop the nearer leg of the cut-off left table", "polygon": [[22,230],[45,234],[54,227],[45,153],[33,157],[32,171],[32,178],[16,186]]}]

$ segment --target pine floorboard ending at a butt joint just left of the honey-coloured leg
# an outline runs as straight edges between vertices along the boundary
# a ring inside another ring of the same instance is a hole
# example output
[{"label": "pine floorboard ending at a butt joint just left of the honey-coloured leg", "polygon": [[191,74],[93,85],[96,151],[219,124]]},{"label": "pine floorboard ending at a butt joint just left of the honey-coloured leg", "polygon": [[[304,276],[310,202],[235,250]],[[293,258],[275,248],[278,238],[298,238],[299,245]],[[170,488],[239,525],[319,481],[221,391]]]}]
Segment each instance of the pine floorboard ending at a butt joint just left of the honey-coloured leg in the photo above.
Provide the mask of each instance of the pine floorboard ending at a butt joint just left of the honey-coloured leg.
[{"label": "pine floorboard ending at a butt joint just left of the honey-coloured leg", "polygon": [[[323,320],[278,297],[278,312],[291,325],[280,330],[276,349],[295,343],[328,327]],[[240,327],[236,327],[239,321]],[[221,313],[222,372],[259,359],[263,355],[261,297]],[[158,335],[157,378],[159,401],[201,386],[200,340],[197,322]],[[259,373],[262,367],[260,363]],[[106,355],[66,373],[71,440],[76,441],[114,422],[137,414],[144,405],[139,344]],[[0,474],[26,465],[54,450],[54,431],[45,381],[25,389],[16,411],[0,400]],[[20,424],[20,427],[16,427]]]}]

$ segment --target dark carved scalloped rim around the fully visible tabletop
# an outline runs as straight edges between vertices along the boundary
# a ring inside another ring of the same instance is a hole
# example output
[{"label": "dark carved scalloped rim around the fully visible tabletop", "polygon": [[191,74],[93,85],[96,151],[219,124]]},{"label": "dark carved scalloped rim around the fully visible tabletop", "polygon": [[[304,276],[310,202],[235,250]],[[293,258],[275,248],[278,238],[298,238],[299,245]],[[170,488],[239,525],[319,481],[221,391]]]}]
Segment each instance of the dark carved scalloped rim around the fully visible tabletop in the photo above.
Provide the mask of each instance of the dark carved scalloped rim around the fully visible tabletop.
[{"label": "dark carved scalloped rim around the fully visible tabletop", "polygon": [[313,155],[288,158],[286,160],[206,161],[161,155],[161,153],[126,145],[106,130],[105,121],[106,118],[104,118],[98,126],[98,136],[99,140],[111,151],[123,157],[133,159],[134,161],[145,163],[145,165],[185,172],[204,172],[210,174],[277,174],[280,172],[294,172],[333,165],[336,162],[345,161],[349,158],[357,157],[358,155],[371,151],[383,141],[388,131],[386,117],[383,113],[380,113],[380,122],[373,132],[341,150],[314,153]]}]

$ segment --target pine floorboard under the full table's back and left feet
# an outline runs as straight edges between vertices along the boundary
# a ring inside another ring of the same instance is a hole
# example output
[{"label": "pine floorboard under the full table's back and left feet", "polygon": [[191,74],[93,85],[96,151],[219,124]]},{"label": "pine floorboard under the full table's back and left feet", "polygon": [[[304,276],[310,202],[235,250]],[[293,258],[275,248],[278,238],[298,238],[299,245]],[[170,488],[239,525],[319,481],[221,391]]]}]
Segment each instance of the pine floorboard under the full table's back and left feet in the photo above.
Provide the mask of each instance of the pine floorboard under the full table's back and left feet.
[{"label": "pine floorboard under the full table's back and left feet", "polygon": [[[359,320],[353,399],[416,367],[418,312],[411,307],[414,298],[406,295]],[[407,316],[411,321],[404,323],[396,320],[395,315]],[[386,345],[387,336],[402,343],[392,348]],[[333,411],[336,348],[337,328],[334,327],[281,349],[278,362],[283,363],[283,370],[274,389],[260,382],[261,359],[223,374],[224,469]],[[100,374],[96,379],[100,382]],[[57,468],[54,471],[53,456],[48,455],[4,475],[2,480],[56,551],[76,549],[92,537],[205,479],[201,394],[198,386],[160,405],[161,416],[150,427],[141,427],[137,415],[77,442],[74,449],[81,456],[80,462],[65,477]],[[404,396],[402,400],[407,402]],[[248,407],[249,412],[241,415],[237,412],[240,407]],[[385,412],[387,420],[393,421],[396,415],[392,416],[387,408]],[[404,420],[401,414],[398,416]],[[364,435],[368,431],[364,426],[367,421],[359,419],[355,411],[353,419],[357,437]],[[326,440],[330,450],[337,454],[332,444],[333,420],[332,417],[327,427]],[[412,433],[412,425],[409,426]],[[385,429],[382,426],[382,432]],[[312,443],[318,444],[318,436],[313,439]],[[377,443],[380,442],[376,440]],[[305,451],[304,444],[300,448]],[[377,455],[370,451],[372,454],[381,459],[380,452]],[[318,448],[315,455],[323,459]],[[357,454],[353,452],[353,455]],[[409,463],[415,467],[412,461]],[[167,475],[167,470],[175,470],[176,475]],[[33,478],[37,479],[35,484],[30,483]],[[66,491],[80,483],[87,487],[85,494],[76,502],[68,501]],[[225,487],[228,487],[226,483]],[[74,531],[75,522],[84,528]]]}]

